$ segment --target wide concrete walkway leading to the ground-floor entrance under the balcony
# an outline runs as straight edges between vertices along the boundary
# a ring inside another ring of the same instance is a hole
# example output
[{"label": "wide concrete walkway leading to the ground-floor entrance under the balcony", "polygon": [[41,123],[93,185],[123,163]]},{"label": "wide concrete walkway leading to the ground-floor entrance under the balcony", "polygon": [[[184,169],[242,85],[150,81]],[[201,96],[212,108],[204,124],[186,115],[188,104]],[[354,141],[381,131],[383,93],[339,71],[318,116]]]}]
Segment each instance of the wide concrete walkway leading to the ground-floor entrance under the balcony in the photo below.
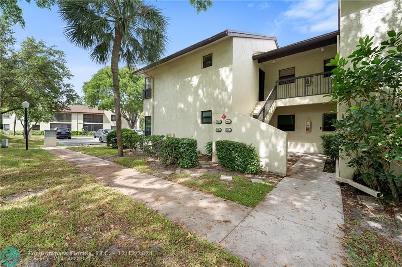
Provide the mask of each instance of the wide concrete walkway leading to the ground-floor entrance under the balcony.
[{"label": "wide concrete walkway leading to the ground-floor entrance under the balcony", "polygon": [[252,266],[342,265],[341,191],[324,163],[303,156],[221,245]]}]

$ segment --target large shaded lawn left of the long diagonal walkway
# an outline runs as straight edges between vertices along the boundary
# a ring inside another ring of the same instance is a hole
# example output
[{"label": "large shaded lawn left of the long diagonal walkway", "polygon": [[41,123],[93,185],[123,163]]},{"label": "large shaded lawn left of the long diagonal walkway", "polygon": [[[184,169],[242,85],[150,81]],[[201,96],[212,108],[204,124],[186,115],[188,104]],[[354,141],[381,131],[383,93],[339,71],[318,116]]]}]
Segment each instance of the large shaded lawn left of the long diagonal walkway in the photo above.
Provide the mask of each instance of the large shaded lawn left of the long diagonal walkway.
[{"label": "large shaded lawn left of the long diagonal walkway", "polygon": [[[40,149],[41,140],[30,140],[25,151],[21,137],[6,138],[9,148],[0,149],[0,248],[17,248],[23,263],[33,260],[32,252],[88,251],[92,256],[85,262],[64,257],[54,263],[243,265],[221,248]],[[110,255],[96,255],[96,251]],[[119,251],[123,252],[119,255]],[[136,256],[127,251],[144,252]]]}]

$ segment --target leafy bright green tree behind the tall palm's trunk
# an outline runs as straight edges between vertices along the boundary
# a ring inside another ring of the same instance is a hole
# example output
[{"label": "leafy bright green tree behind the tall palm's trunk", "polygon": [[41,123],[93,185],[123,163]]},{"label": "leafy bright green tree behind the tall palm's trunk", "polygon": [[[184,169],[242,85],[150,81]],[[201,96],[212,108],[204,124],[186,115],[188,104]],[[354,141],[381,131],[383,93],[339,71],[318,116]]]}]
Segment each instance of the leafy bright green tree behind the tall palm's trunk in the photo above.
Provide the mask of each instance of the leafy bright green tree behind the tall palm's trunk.
[{"label": "leafy bright green tree behind the tall palm's trunk", "polygon": [[[89,106],[115,111],[113,81],[110,67],[100,69],[85,82],[82,91]],[[144,77],[133,75],[128,68],[119,69],[120,110],[123,118],[133,129],[143,111],[142,90]]]}]

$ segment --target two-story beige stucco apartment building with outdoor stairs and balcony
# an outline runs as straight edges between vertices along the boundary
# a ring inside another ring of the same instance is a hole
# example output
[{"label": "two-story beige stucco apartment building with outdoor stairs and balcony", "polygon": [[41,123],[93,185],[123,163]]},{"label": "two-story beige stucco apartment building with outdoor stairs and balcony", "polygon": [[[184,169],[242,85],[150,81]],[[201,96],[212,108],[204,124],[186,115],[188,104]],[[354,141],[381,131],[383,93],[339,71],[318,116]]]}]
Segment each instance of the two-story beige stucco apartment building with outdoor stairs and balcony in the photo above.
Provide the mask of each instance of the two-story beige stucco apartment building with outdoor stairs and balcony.
[{"label": "two-story beige stucco apartment building with outdoor stairs and balcony", "polygon": [[279,48],[274,37],[226,30],[134,72],[145,76],[146,134],[193,137],[202,152],[208,141],[251,143],[280,174],[288,151],[321,153],[337,116],[326,63],[375,29],[401,29],[397,1],[341,2],[340,31]]}]

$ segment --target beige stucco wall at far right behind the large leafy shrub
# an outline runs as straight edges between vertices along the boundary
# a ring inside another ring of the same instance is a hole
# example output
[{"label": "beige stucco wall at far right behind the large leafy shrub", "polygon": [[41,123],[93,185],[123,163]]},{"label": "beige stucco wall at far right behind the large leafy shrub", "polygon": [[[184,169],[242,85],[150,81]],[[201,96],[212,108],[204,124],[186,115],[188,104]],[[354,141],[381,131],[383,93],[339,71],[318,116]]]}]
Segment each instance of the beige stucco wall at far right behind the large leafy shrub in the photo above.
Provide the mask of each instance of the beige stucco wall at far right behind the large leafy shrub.
[{"label": "beige stucco wall at far right behind the large leafy shrub", "polygon": [[[355,50],[360,37],[374,36],[374,46],[387,39],[387,31],[402,31],[402,1],[400,0],[366,0],[340,1],[340,39],[339,54],[347,57]],[[344,108],[337,107],[338,116]],[[337,175],[352,178],[354,170],[347,167],[345,161],[339,160]]]}]

